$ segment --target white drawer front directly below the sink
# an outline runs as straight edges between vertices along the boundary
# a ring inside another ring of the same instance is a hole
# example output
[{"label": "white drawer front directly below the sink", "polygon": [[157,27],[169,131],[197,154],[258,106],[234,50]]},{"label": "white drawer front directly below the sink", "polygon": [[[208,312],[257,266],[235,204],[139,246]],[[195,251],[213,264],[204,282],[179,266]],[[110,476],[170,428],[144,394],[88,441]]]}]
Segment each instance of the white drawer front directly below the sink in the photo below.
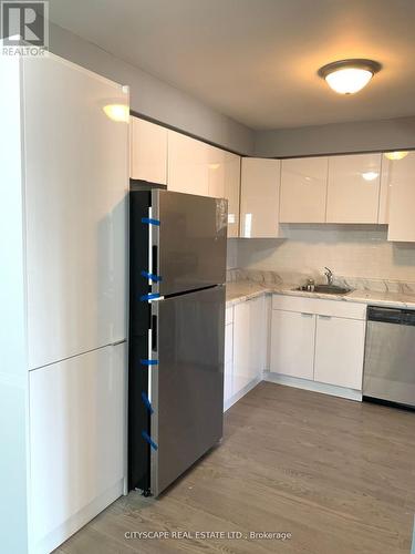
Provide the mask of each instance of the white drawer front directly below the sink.
[{"label": "white drawer front directly below the sink", "polygon": [[366,305],[301,296],[272,296],[272,309],[301,311],[322,316],[336,316],[350,319],[365,319]]}]

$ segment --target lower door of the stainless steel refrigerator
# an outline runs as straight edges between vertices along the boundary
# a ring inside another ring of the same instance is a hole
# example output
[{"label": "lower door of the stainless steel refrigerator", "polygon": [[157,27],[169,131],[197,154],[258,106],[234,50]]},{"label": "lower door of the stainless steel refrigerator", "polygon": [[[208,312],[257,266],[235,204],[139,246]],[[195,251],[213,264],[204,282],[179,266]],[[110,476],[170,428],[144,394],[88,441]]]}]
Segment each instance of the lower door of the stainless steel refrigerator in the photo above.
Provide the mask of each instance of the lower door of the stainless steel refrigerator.
[{"label": "lower door of the stainless steel refrigerator", "polygon": [[225,287],[167,298],[153,310],[151,490],[157,496],[222,437]]}]

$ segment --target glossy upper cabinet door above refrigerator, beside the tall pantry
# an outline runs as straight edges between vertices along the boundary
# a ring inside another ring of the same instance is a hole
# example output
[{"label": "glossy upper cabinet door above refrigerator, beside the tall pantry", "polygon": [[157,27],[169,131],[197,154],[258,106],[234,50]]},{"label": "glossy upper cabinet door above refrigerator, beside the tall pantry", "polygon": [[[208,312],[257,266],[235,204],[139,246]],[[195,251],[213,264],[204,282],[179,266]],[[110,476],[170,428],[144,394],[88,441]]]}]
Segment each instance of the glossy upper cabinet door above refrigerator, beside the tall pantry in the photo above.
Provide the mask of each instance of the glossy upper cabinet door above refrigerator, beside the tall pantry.
[{"label": "glossy upper cabinet door above refrigerator, beside the tall pantry", "polygon": [[129,176],[167,184],[167,129],[131,117]]}]

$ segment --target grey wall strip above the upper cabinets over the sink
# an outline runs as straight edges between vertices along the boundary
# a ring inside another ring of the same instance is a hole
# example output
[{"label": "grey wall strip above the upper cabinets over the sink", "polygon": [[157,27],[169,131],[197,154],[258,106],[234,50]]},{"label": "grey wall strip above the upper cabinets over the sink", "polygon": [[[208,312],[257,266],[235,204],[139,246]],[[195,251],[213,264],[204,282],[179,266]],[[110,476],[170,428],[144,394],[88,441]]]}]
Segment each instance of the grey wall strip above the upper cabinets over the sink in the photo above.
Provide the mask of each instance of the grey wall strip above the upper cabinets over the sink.
[{"label": "grey wall strip above the upper cabinets over the sink", "polygon": [[415,116],[257,131],[255,148],[264,157],[415,148]]}]

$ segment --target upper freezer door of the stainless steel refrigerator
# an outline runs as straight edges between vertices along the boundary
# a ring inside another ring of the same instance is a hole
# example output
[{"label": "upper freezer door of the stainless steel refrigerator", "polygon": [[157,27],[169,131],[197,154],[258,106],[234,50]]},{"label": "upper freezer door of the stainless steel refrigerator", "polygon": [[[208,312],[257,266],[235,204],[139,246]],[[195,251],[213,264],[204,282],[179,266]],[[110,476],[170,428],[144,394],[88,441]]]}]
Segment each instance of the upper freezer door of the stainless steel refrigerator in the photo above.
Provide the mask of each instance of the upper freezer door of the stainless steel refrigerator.
[{"label": "upper freezer door of the stainless steel refrigerator", "polygon": [[153,273],[162,277],[153,291],[173,295],[226,280],[227,201],[168,191],[153,192],[153,227],[158,253]]}]

